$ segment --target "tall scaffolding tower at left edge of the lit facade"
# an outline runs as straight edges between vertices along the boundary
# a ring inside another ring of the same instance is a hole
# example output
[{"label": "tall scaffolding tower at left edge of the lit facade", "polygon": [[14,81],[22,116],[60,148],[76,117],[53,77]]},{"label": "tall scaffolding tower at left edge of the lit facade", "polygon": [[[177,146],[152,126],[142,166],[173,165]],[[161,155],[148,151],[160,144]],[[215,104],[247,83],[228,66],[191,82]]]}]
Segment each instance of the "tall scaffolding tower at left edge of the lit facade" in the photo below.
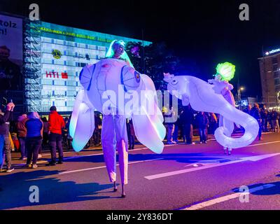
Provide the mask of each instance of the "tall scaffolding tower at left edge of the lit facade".
[{"label": "tall scaffolding tower at left edge of the lit facade", "polygon": [[24,31],[25,110],[41,111],[41,21],[25,20]]}]

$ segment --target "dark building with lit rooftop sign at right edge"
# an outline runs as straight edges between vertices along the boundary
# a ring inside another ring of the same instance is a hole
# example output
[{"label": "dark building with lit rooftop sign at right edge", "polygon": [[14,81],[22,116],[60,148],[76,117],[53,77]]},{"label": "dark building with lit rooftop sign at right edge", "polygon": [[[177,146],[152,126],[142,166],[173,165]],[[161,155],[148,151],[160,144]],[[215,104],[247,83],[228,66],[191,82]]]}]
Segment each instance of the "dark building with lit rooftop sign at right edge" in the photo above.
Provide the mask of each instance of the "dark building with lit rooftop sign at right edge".
[{"label": "dark building with lit rooftop sign at right edge", "polygon": [[262,102],[267,108],[280,106],[280,49],[265,52],[260,57],[260,79],[262,84]]}]

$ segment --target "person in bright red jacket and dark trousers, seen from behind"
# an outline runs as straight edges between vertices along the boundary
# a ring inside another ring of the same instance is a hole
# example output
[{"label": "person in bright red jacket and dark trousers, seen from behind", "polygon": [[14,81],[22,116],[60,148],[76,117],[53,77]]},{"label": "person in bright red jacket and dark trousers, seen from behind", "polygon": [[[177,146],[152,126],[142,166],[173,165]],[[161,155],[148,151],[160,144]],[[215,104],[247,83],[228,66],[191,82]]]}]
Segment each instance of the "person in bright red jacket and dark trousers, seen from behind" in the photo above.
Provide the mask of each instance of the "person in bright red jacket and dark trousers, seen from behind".
[{"label": "person in bright red jacket and dark trousers, seen from behind", "polygon": [[49,163],[50,166],[56,165],[57,153],[56,148],[58,149],[59,160],[58,164],[63,163],[63,150],[62,150],[62,128],[64,128],[65,123],[62,116],[57,113],[57,108],[55,106],[50,107],[50,114],[48,118],[48,132],[49,143],[50,143],[50,154],[51,161]]}]

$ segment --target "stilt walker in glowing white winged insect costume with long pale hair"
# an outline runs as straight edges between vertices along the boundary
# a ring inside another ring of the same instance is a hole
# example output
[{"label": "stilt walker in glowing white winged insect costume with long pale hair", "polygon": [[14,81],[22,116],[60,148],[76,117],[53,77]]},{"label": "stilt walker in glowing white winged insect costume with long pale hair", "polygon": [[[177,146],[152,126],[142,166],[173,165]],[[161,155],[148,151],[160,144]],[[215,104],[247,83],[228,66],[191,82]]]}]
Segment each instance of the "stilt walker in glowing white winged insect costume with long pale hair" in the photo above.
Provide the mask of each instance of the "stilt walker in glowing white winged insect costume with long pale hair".
[{"label": "stilt walker in glowing white winged insect costume with long pale hair", "polygon": [[[162,153],[162,140],[165,138],[163,117],[158,108],[153,81],[135,71],[124,49],[123,41],[113,41],[106,59],[85,66],[80,72],[82,87],[73,106],[69,129],[73,137],[73,149],[80,151],[92,136],[94,109],[103,113],[104,160],[109,179],[114,183],[113,189],[116,191],[117,148],[122,197],[125,197],[124,186],[127,184],[126,118],[132,118],[137,139],[155,153]],[[140,94],[141,99],[138,97]],[[152,105],[154,113],[148,113],[145,102]]]}]

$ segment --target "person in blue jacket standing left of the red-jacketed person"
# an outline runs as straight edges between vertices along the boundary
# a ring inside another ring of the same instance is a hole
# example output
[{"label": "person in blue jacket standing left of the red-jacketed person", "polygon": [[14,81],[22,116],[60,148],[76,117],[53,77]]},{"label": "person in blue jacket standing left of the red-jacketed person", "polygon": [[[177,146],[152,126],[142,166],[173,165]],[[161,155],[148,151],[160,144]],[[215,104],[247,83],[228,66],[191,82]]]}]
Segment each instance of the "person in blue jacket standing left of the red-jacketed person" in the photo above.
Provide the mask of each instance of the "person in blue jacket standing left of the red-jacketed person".
[{"label": "person in blue jacket standing left of the red-jacketed person", "polygon": [[[25,119],[27,129],[26,148],[27,148],[27,167],[37,168],[38,152],[43,139],[43,121],[37,112],[29,112]],[[31,159],[33,155],[32,165]]]}]

